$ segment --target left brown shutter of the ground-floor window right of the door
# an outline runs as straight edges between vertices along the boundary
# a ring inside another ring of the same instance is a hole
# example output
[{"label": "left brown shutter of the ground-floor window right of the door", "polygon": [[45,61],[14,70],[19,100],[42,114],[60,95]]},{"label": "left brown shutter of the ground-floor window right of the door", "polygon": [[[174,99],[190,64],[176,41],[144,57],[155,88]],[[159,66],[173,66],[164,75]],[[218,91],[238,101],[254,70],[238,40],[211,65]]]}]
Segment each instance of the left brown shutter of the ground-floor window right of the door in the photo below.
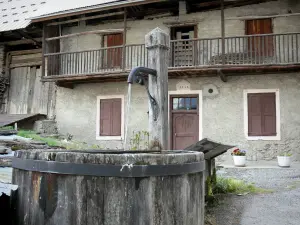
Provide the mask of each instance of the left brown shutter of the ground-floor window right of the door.
[{"label": "left brown shutter of the ground-floor window right of the door", "polygon": [[248,94],[248,135],[261,135],[261,99],[259,94]]}]

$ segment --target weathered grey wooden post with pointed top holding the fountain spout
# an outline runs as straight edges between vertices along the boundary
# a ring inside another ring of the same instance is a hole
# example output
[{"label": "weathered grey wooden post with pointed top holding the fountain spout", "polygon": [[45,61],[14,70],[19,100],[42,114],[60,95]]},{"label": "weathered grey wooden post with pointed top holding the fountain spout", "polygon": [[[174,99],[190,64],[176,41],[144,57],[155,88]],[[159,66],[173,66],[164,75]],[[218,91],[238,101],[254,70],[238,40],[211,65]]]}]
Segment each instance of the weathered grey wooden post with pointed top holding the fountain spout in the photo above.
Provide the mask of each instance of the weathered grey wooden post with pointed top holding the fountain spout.
[{"label": "weathered grey wooden post with pointed top holding the fountain spout", "polygon": [[149,75],[149,92],[158,103],[158,114],[149,102],[150,149],[168,148],[168,59],[170,36],[160,28],[155,28],[145,37],[148,49],[148,66],[157,71],[157,77]]}]

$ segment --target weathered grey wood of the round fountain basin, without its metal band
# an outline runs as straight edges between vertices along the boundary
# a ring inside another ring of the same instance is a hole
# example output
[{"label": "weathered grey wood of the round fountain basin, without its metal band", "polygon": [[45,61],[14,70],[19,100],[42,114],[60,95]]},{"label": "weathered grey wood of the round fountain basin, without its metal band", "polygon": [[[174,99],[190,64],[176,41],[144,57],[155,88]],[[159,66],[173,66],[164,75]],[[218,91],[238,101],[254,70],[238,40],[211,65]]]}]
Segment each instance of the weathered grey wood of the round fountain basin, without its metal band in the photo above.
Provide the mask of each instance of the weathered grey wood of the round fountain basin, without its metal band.
[{"label": "weathered grey wood of the round fountain basin, without its metal band", "polygon": [[[192,154],[89,154],[18,151],[23,159],[109,165],[181,164]],[[203,173],[118,178],[13,171],[17,225],[203,225]]]}]

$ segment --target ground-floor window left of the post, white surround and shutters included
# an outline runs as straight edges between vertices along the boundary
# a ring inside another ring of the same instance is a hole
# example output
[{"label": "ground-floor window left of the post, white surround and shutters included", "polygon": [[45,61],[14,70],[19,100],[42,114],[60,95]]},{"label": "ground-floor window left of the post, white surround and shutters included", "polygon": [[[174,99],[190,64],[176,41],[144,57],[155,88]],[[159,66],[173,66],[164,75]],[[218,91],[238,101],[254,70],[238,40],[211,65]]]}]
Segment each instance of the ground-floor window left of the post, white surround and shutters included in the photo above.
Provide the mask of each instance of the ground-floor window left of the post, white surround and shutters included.
[{"label": "ground-floor window left of the post, white surround and shutters included", "polygon": [[97,97],[97,140],[123,137],[123,96]]}]

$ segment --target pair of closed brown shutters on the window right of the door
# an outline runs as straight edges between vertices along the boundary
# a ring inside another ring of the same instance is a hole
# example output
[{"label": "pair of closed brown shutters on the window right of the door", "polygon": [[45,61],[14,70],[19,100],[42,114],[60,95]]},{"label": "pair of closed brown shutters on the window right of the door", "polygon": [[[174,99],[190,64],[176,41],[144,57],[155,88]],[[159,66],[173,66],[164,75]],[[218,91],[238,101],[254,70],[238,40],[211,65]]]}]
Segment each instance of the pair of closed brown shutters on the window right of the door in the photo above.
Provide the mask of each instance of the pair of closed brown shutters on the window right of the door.
[{"label": "pair of closed brown shutters on the window right of the door", "polygon": [[276,136],[276,94],[248,93],[248,135]]}]

